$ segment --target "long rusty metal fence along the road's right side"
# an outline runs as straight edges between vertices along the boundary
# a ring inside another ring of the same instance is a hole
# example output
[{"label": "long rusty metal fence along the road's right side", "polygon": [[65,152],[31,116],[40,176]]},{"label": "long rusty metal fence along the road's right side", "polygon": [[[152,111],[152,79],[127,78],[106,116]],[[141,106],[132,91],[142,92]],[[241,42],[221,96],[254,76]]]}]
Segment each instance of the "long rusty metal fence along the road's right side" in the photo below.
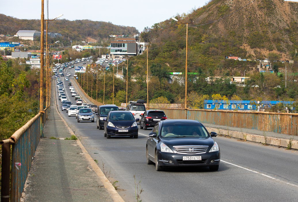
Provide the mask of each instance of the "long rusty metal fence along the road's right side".
[{"label": "long rusty metal fence along the road's right side", "polygon": [[[170,119],[184,119],[185,110],[179,108],[150,108],[162,110]],[[249,128],[287,135],[298,135],[297,113],[243,112],[187,109],[187,119],[228,127]]]}]

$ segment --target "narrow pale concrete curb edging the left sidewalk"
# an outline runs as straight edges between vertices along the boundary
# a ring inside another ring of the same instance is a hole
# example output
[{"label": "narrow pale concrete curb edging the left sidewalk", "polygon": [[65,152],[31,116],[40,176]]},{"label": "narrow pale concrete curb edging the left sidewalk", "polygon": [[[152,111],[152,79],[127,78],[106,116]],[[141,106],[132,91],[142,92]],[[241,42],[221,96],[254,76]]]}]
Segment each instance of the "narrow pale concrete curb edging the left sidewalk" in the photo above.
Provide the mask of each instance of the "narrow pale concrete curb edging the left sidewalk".
[{"label": "narrow pale concrete curb edging the left sidewalk", "polygon": [[[54,83],[55,83],[55,81],[54,81]],[[69,127],[69,125],[67,124],[67,122],[61,116],[60,111],[58,110],[58,105],[57,105],[57,101],[56,101],[56,89],[55,89],[55,104],[56,104],[56,108],[57,108],[58,114],[59,114],[60,118],[62,119],[64,125],[67,127],[67,129],[68,129],[68,131],[70,132],[71,135],[75,135],[75,133]],[[92,157],[87,152],[87,150],[85,149],[85,147],[83,146],[83,144],[81,143],[81,141],[79,139],[77,139],[77,144],[80,146],[80,148],[81,148],[81,150],[82,150],[85,158],[89,161],[92,169],[97,174],[97,176],[99,177],[100,181],[103,183],[103,186],[105,187],[105,189],[107,189],[107,191],[110,193],[111,198],[113,199],[113,201],[115,201],[115,202],[125,202],[122,199],[122,197],[119,195],[119,193],[115,190],[115,187],[105,177],[105,174],[103,173],[103,171],[100,169],[100,167],[97,165],[97,163],[92,159]]]}]

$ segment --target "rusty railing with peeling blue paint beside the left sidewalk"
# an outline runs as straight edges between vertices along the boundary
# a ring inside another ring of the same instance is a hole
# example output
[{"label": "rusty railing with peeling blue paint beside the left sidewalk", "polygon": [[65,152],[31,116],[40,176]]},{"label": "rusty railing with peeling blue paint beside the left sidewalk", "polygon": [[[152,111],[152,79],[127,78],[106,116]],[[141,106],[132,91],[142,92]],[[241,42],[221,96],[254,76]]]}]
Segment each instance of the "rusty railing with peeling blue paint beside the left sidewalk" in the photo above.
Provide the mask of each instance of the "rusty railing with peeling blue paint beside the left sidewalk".
[{"label": "rusty railing with peeling blue paint beside the left sidewalk", "polygon": [[35,150],[40,138],[44,136],[43,129],[48,113],[49,108],[45,108],[44,113],[39,112],[10,138],[0,142],[2,145],[2,202],[20,201]]}]

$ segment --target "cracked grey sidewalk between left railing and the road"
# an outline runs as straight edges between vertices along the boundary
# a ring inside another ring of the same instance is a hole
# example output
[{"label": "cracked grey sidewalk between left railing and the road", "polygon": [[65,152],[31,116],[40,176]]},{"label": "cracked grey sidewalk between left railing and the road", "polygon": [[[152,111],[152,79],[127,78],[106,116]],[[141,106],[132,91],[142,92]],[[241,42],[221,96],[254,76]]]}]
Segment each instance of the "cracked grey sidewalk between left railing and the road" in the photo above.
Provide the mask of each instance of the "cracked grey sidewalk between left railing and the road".
[{"label": "cracked grey sidewalk between left railing and the road", "polygon": [[52,86],[44,138],[35,152],[21,201],[121,201],[115,197],[116,191],[107,186],[109,182],[104,182],[106,178],[80,141],[64,140],[73,132],[61,119],[55,103],[55,85]]}]

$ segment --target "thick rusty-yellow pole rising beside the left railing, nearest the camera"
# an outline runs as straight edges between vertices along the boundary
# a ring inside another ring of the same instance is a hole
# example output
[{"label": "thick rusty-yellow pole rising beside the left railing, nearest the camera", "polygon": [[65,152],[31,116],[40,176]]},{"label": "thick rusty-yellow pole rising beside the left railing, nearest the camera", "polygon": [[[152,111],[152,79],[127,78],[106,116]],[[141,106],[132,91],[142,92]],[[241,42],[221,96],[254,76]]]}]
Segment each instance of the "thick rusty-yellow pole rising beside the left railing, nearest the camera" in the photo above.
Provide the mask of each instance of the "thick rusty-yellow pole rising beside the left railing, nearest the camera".
[{"label": "thick rusty-yellow pole rising beside the left railing, nearest the camera", "polygon": [[42,113],[40,116],[40,134],[44,137],[43,132],[43,114],[44,114],[44,0],[41,0],[41,35],[40,35],[40,97],[39,97],[39,112]]}]

